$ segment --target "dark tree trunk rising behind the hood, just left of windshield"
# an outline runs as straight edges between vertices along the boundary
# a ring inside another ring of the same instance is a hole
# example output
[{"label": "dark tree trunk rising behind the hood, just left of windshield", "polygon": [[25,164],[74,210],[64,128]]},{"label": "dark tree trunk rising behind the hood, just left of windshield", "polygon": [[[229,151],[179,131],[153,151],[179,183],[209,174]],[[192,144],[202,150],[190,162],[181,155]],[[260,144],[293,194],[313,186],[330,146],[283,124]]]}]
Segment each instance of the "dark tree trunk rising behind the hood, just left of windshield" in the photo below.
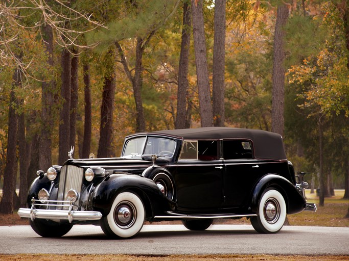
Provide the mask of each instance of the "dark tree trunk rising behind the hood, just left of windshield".
[{"label": "dark tree trunk rising behind the hood, just left of windshield", "polygon": [[101,106],[101,126],[98,146],[98,158],[109,158],[112,156],[112,120],[114,110],[115,95],[115,51],[110,47],[105,56],[106,74],[104,75],[102,106]]}]

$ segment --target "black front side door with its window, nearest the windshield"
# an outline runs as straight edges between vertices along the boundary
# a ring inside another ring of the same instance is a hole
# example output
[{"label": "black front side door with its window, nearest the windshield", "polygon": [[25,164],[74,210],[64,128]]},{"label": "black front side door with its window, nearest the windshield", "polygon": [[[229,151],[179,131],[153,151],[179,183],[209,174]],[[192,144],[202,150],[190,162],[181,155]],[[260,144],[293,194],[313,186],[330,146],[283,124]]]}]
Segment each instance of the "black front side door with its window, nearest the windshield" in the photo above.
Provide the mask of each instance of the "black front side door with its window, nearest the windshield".
[{"label": "black front side door with its window, nearest the windshield", "polygon": [[217,140],[184,141],[175,174],[178,210],[210,213],[220,208],[223,169]]}]

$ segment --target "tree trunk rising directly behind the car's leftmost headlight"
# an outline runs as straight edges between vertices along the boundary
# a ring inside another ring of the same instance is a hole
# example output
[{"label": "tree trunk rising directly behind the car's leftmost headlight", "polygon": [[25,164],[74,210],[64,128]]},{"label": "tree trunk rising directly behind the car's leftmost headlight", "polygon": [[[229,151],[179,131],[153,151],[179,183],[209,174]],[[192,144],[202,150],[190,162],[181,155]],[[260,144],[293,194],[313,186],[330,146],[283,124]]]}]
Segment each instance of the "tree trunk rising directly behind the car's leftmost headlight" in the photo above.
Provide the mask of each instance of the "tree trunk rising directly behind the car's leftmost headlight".
[{"label": "tree trunk rising directly behind the car's leftmost headlight", "polygon": [[[52,68],[53,61],[53,33],[50,25],[43,28],[44,44],[48,55],[48,67]],[[45,79],[44,79],[45,80]],[[42,82],[41,92],[41,133],[39,137],[38,167],[46,171],[52,165],[51,159],[51,136],[53,129],[53,103],[56,83],[54,80]],[[33,163],[34,164],[34,163]],[[36,165],[36,164],[34,164]]]}]

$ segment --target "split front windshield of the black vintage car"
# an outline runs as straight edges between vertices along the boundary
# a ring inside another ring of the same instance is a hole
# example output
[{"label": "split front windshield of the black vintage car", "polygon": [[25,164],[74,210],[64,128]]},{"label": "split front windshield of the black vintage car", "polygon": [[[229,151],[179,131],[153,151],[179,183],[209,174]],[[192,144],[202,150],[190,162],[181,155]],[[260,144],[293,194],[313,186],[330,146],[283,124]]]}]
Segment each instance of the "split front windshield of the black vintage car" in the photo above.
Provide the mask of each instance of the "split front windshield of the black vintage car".
[{"label": "split front windshield of the black vintage car", "polygon": [[171,158],[176,147],[176,142],[170,139],[140,137],[127,141],[123,157],[139,158],[143,154],[156,154]]}]

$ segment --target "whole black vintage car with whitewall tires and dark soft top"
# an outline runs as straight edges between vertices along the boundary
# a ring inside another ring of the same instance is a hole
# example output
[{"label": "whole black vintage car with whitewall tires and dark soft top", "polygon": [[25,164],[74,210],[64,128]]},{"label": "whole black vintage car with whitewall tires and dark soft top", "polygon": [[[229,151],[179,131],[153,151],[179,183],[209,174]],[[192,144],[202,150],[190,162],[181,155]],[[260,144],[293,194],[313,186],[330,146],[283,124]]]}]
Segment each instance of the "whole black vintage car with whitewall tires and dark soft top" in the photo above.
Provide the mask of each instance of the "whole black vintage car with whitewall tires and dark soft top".
[{"label": "whole black vintage car with whitewall tires and dark soft top", "polygon": [[121,158],[71,159],[38,171],[18,215],[42,237],[74,224],[131,238],[144,221],[181,220],[191,230],[213,219],[250,219],[275,233],[286,214],[316,211],[278,134],[229,127],[176,129],[125,138]]}]

